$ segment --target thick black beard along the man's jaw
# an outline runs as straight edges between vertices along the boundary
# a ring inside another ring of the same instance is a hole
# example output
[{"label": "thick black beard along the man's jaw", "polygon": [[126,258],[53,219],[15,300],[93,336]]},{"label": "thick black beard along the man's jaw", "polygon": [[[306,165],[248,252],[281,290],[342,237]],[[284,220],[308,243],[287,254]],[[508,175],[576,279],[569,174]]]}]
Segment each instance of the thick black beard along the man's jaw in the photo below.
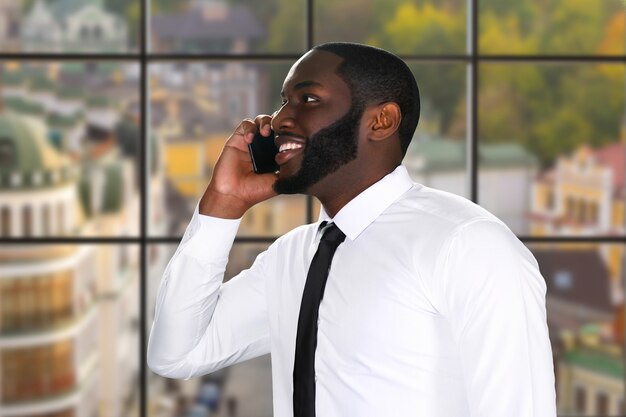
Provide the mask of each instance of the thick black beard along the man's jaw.
[{"label": "thick black beard along the man's jaw", "polygon": [[320,129],[307,141],[300,169],[274,183],[278,194],[302,194],[324,177],[354,160],[357,154],[361,106],[352,106],[339,120]]}]

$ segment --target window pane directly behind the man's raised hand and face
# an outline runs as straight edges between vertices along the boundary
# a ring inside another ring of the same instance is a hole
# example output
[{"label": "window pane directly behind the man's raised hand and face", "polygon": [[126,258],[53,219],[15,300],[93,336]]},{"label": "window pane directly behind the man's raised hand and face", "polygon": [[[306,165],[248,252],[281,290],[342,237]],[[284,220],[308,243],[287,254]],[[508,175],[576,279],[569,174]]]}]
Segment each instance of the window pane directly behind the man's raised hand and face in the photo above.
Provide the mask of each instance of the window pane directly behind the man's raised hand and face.
[{"label": "window pane directly behind the man's raised hand and face", "polygon": [[[291,63],[150,66],[150,232],[182,235],[224,143],[244,118],[271,114]],[[306,220],[303,196],[279,196],[244,216],[240,235],[275,236]]]}]

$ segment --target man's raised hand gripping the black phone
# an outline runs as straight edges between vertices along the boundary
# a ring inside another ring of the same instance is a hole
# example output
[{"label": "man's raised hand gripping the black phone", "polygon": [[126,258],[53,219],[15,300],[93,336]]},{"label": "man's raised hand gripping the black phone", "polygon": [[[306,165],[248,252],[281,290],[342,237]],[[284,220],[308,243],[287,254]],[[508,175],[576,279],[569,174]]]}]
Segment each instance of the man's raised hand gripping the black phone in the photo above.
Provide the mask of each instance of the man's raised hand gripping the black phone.
[{"label": "man's raised hand gripping the black phone", "polygon": [[268,115],[245,119],[230,135],[200,200],[200,214],[238,219],[253,205],[276,195],[272,188],[276,174],[256,174],[248,153],[257,129],[269,136],[271,120]]}]

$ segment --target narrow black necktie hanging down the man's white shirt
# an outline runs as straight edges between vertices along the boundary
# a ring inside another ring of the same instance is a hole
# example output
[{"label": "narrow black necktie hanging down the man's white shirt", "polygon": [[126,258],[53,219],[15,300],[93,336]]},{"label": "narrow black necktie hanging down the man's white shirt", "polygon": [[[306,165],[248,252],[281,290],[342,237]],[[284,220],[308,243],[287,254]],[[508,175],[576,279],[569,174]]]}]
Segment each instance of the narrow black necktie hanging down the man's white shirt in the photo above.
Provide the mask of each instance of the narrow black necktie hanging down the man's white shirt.
[{"label": "narrow black necktie hanging down the man's white shirt", "polygon": [[317,252],[306,276],[298,333],[296,359],[293,367],[294,417],[315,417],[315,347],[317,346],[317,317],[324,296],[330,263],[337,247],[346,235],[333,223],[324,231]]}]

